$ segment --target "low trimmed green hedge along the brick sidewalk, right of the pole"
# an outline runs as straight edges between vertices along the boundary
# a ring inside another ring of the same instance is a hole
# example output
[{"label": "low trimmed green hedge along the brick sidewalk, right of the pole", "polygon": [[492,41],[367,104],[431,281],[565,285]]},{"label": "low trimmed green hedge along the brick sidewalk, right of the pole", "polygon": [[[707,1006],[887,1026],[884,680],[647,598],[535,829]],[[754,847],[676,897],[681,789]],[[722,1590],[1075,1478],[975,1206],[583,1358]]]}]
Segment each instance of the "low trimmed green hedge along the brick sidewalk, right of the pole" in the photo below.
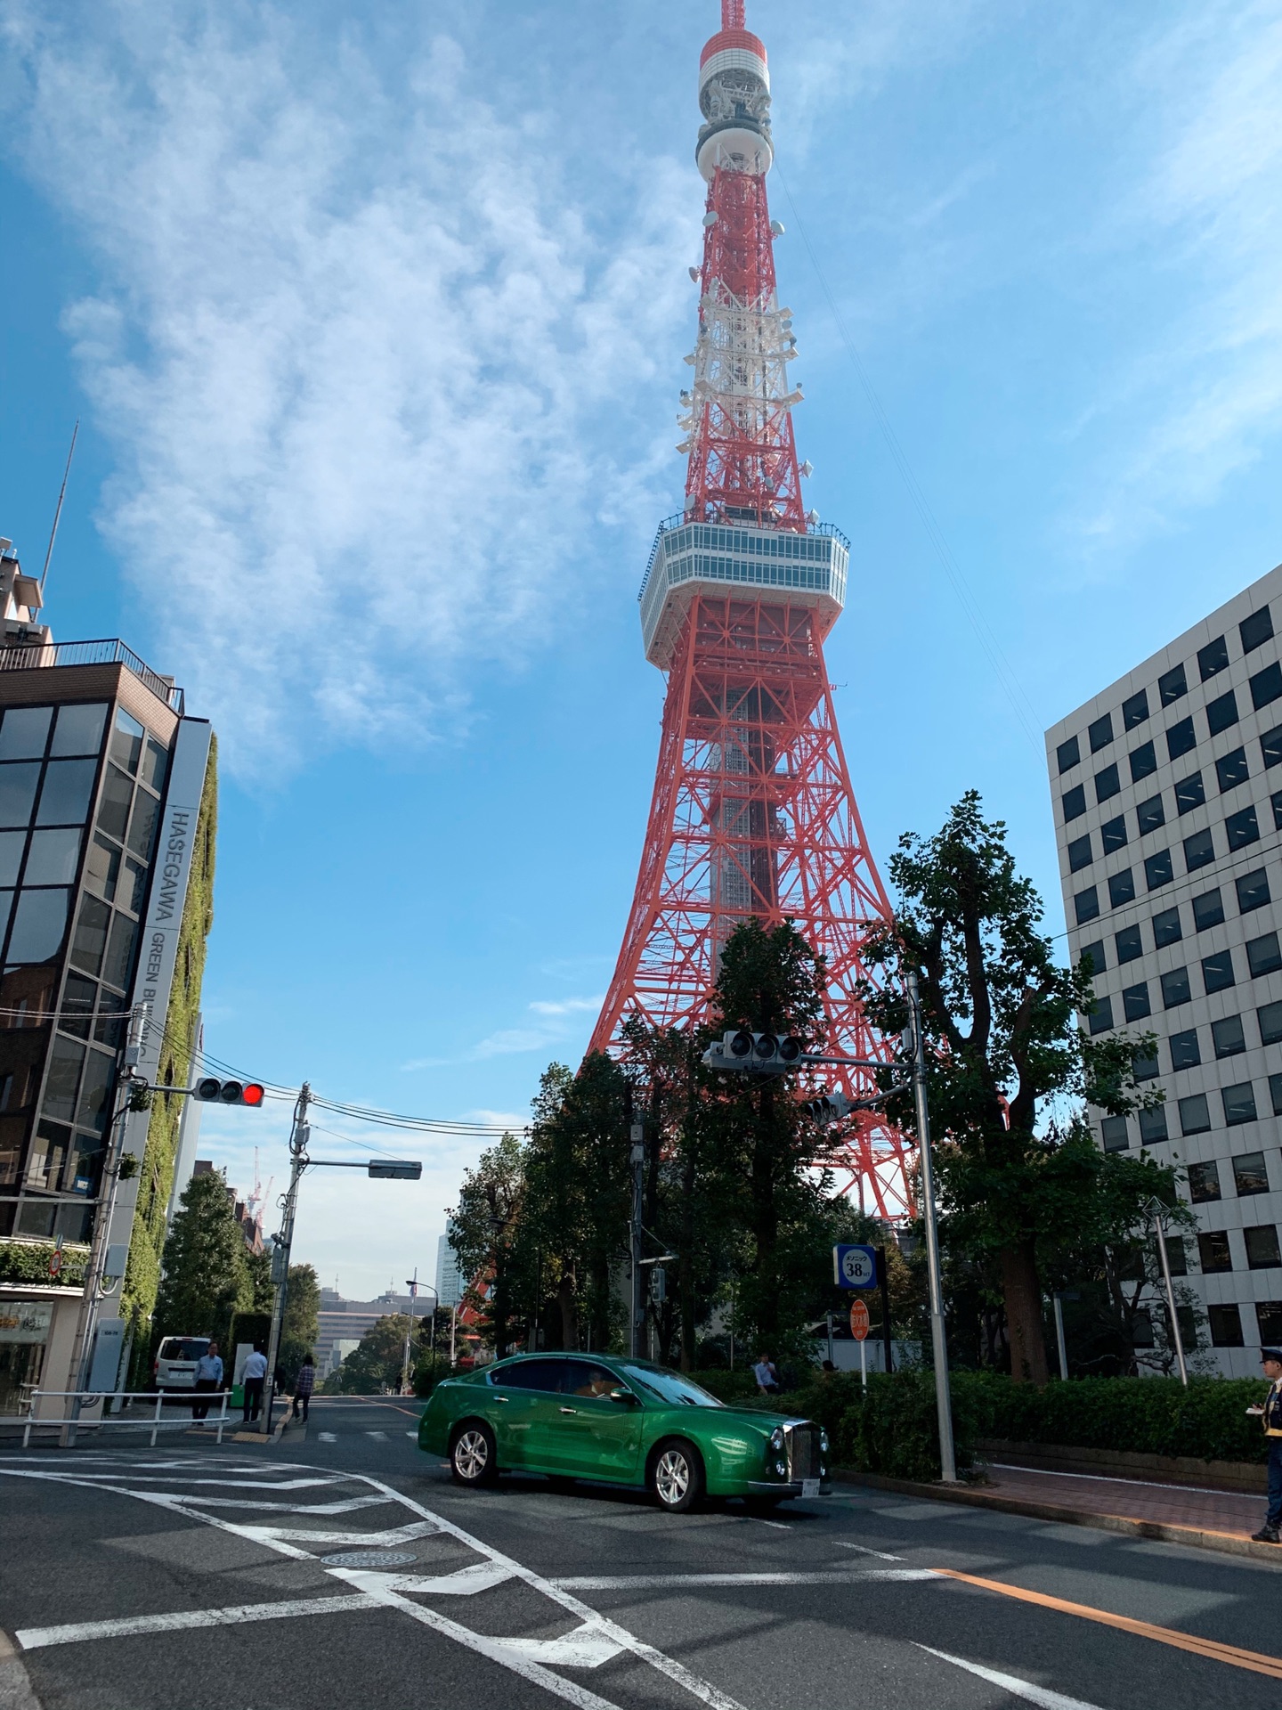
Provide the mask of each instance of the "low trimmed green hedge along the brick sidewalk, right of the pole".
[{"label": "low trimmed green hedge along the brick sidewalk, right of the pole", "polygon": [[981,1371],[952,1373],[954,1399],[978,1421],[979,1436],[1065,1448],[1121,1448],[1197,1460],[1267,1460],[1256,1378],[1072,1378],[1044,1389]]}]

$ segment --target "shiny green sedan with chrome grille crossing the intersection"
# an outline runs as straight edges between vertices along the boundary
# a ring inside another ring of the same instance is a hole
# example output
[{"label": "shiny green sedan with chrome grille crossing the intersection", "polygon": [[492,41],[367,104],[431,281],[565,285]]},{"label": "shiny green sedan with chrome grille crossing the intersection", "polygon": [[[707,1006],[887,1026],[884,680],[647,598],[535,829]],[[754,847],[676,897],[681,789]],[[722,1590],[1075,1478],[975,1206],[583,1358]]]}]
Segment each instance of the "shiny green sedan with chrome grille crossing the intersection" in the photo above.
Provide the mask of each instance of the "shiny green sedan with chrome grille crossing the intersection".
[{"label": "shiny green sedan with chrome grille crossing the intersection", "polygon": [[446,1378],[419,1448],[460,1484],[499,1472],[648,1488],[684,1513],[704,1496],[774,1507],[827,1495],[827,1436],[810,1419],[726,1407],[680,1371],[603,1354],[520,1354]]}]

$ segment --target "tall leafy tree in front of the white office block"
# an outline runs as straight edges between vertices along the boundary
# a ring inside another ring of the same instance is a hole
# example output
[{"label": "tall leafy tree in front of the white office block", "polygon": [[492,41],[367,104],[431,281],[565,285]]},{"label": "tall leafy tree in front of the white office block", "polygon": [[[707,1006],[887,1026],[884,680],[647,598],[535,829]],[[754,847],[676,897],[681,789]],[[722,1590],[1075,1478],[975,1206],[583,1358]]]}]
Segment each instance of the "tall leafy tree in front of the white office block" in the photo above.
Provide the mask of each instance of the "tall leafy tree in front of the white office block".
[{"label": "tall leafy tree in front of the white office block", "polygon": [[[1109,1113],[1161,1101],[1133,1074],[1152,1036],[1091,1038],[1077,1026],[1094,1004],[1091,970],[1055,963],[1041,899],[974,790],[933,838],[899,840],[891,879],[901,906],[865,946],[880,971],[863,985],[865,1009],[885,1036],[903,1033],[903,976],[916,970],[947,1241],[995,1264],[1012,1375],[1044,1383],[1039,1265],[1128,1241],[1154,1197],[1178,1207],[1173,1170],[1101,1153],[1080,1113],[1084,1101]],[[1072,1110],[1058,1123],[1048,1120],[1056,1106]],[[914,1130],[911,1096],[894,1096],[887,1113]]]}]

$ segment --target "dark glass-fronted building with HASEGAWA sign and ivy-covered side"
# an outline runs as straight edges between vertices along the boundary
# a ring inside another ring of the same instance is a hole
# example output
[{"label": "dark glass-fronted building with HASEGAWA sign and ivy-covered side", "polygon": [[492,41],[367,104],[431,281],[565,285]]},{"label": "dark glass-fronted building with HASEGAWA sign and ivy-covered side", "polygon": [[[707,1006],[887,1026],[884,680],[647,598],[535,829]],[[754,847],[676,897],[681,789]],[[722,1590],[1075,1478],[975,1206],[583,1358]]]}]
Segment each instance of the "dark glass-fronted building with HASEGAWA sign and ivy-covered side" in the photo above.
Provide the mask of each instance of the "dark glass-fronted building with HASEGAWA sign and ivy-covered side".
[{"label": "dark glass-fronted building with HASEGAWA sign and ivy-covered side", "polygon": [[[210,925],[214,749],[183,691],[121,641],[55,643],[0,542],[0,1414],[65,1389],[113,1120],[130,1163],[99,1315],[115,1387],[150,1318],[185,1100],[116,1110],[128,1012],[138,1072],[186,1084]],[[56,1259],[55,1259],[56,1253]]]}]

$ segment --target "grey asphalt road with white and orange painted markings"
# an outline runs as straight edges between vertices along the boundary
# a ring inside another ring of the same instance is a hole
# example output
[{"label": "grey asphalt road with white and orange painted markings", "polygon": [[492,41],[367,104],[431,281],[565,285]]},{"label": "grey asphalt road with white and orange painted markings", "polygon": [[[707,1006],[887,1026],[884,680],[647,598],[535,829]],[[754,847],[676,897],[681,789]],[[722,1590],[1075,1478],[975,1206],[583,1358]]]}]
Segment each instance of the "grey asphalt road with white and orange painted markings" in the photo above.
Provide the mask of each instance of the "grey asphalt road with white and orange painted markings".
[{"label": "grey asphalt road with white and orange painted markings", "polygon": [[1282,1701],[1282,1561],[873,1491],[776,1520],[460,1491],[414,1423],[342,1399],[272,1448],[0,1445],[2,1710]]}]

